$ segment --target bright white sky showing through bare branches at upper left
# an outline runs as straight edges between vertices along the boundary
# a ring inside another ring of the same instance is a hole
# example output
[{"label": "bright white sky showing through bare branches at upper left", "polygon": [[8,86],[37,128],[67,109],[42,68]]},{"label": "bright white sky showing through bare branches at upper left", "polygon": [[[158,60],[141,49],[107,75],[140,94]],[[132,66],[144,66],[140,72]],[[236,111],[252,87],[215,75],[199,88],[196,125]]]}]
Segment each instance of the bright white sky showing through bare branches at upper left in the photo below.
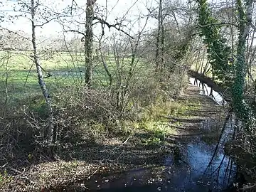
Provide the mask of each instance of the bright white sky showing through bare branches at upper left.
[{"label": "bright white sky showing through bare branches at upper left", "polygon": [[[17,6],[16,0],[0,0],[4,3],[4,6],[0,5],[0,11],[6,11],[6,14],[12,14],[14,15],[14,11],[11,11],[13,8],[12,6]],[[23,0],[25,1],[25,0]],[[75,0],[78,5],[81,5],[82,7],[85,7],[86,0]],[[154,0],[153,0],[154,1]],[[29,1],[28,1],[29,2]],[[72,3],[72,0],[39,0],[42,4],[48,5],[51,9],[55,11],[60,11],[61,9],[64,9],[66,6],[70,5]],[[134,2],[137,2],[134,5]],[[106,5],[106,0],[97,0],[97,4],[100,6]],[[134,5],[134,6],[133,6]],[[107,9],[112,10],[110,13],[110,16],[108,16],[107,21],[109,23],[114,23],[114,19],[117,17],[122,17],[124,14],[127,13],[126,18],[133,20],[137,18],[139,15],[139,11],[142,12],[142,14],[147,14],[148,11],[146,10],[146,6],[151,6],[151,0],[107,0]],[[156,6],[156,5],[155,5]],[[132,8],[131,8],[132,7]],[[29,16],[29,15],[28,15]],[[82,18],[85,18],[85,15],[82,16]],[[80,21],[82,21],[82,18],[80,18]],[[142,20],[142,25],[144,21]],[[149,22],[149,26],[147,28],[153,28],[155,25],[154,21]],[[8,28],[11,31],[24,31],[25,33],[31,34],[31,22],[28,20],[28,18],[19,17],[18,19],[14,20],[14,23],[11,22],[4,22],[0,23],[0,26],[3,26],[4,28]],[[84,26],[81,26],[84,27]],[[100,26],[98,28],[95,28],[95,34],[100,33]],[[138,28],[138,24],[134,26],[135,29]],[[73,28],[76,29],[76,28]],[[83,28],[81,28],[82,30]],[[55,22],[51,21],[50,23],[47,23],[42,28],[36,28],[36,32],[38,36],[47,36],[47,37],[54,37],[58,36],[62,33],[63,27]],[[107,28],[106,28],[107,33]],[[112,29],[114,31],[114,29]]]}]

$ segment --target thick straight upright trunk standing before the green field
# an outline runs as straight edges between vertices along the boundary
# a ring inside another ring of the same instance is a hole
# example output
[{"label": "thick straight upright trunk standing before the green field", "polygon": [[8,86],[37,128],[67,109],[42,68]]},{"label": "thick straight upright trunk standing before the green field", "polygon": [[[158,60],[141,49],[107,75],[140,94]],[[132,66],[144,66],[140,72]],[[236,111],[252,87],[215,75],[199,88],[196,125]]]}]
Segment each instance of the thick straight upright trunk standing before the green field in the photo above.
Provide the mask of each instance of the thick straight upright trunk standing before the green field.
[{"label": "thick straight upright trunk standing before the green field", "polygon": [[92,21],[94,19],[93,6],[95,0],[87,0],[86,4],[86,23],[85,23],[85,84],[92,85],[92,50],[93,50],[93,31]]}]

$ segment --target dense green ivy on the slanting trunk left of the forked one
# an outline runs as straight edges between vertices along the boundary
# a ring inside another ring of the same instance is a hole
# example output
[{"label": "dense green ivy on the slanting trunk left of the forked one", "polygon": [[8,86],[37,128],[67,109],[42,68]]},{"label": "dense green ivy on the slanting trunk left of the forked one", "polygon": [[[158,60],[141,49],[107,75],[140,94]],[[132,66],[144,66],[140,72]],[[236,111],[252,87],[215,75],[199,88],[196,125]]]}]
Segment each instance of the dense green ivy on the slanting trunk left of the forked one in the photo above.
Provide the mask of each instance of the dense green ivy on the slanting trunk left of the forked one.
[{"label": "dense green ivy on the slanting trunk left of the forked one", "polygon": [[213,18],[207,0],[198,0],[198,23],[203,41],[208,46],[208,58],[213,69],[213,77],[228,85],[232,82],[233,65],[228,58],[232,58],[231,49],[227,40],[220,34],[222,27],[216,18]]}]

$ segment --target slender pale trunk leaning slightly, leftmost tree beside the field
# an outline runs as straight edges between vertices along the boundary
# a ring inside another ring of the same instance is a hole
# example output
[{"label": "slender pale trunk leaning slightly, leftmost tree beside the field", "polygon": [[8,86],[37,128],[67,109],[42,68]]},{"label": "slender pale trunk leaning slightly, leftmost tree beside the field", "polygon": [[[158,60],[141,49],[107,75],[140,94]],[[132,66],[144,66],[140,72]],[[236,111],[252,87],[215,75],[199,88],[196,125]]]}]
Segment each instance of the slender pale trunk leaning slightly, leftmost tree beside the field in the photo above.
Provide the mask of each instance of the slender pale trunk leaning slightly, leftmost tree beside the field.
[{"label": "slender pale trunk leaning slightly, leftmost tree beside the field", "polygon": [[46,100],[46,104],[48,106],[48,127],[47,127],[47,134],[46,134],[46,142],[48,144],[53,144],[55,142],[55,137],[57,137],[56,129],[53,125],[53,107],[50,102],[50,95],[46,88],[46,82],[43,80],[43,73],[42,68],[40,65],[40,60],[38,58],[38,50],[36,47],[36,24],[35,24],[35,15],[36,15],[36,6],[35,0],[31,0],[31,24],[32,24],[32,44],[33,44],[33,62],[36,65],[36,73],[38,75],[38,83],[41,87],[43,92],[43,97]]}]

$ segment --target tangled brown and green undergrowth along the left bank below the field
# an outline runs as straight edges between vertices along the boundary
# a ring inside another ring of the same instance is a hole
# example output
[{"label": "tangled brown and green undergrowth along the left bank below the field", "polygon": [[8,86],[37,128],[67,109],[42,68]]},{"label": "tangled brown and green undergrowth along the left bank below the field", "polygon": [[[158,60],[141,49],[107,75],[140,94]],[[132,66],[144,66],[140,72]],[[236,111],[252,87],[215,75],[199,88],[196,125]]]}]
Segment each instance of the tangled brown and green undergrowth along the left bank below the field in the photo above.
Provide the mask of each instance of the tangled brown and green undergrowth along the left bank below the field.
[{"label": "tangled brown and green undergrowth along the left bank below the field", "polygon": [[[57,159],[82,160],[86,156],[84,150],[103,146],[106,139],[112,138],[124,141],[127,137],[137,137],[135,148],[164,145],[169,134],[177,134],[174,125],[178,122],[171,123],[168,118],[184,116],[189,110],[186,102],[172,98],[178,85],[174,80],[170,82],[163,86],[163,82],[151,80],[143,86],[133,87],[128,105],[122,111],[113,103],[110,90],[68,86],[55,92],[53,115],[58,127]],[[43,148],[47,117],[41,95],[31,95],[2,110],[5,112],[1,113],[4,116],[0,119],[0,162],[6,166],[0,170],[0,186],[9,182],[10,176],[19,174],[23,167],[54,160]],[[89,157],[96,158],[86,158]],[[73,164],[67,166],[70,168]]]}]

